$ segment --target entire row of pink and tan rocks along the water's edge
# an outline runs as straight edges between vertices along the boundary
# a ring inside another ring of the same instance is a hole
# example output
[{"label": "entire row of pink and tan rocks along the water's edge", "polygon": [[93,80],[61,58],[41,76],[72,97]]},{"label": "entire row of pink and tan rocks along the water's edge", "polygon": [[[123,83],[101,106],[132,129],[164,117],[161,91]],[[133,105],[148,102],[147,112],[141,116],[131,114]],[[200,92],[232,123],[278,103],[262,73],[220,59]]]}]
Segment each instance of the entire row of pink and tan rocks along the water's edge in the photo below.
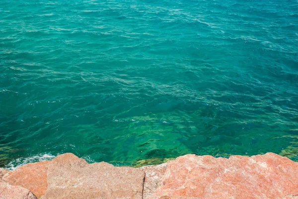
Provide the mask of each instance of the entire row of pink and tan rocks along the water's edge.
[{"label": "entire row of pink and tan rocks along the water's edge", "polygon": [[298,199],[298,163],[274,153],[189,154],[133,168],[66,153],[0,169],[0,199]]}]

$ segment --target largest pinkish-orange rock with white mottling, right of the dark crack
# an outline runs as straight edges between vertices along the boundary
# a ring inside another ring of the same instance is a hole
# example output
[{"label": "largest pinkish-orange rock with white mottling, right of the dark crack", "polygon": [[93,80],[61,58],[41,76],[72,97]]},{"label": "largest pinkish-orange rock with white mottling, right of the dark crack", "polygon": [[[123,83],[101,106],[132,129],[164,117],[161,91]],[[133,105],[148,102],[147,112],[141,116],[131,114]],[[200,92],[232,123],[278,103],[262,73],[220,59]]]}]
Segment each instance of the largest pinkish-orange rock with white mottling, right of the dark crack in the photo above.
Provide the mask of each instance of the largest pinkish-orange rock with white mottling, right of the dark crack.
[{"label": "largest pinkish-orange rock with white mottling, right of the dark crack", "polygon": [[185,155],[162,165],[142,168],[144,199],[298,199],[298,163],[274,153]]}]

